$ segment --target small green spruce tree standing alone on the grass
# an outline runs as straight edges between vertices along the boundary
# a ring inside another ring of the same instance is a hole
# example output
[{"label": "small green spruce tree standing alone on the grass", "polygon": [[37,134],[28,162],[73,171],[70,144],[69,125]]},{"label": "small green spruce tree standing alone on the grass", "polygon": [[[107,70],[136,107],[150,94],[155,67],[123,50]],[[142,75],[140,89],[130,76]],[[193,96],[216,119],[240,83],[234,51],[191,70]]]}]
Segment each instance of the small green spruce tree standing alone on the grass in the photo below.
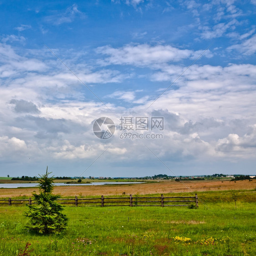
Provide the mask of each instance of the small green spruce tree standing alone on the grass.
[{"label": "small green spruce tree standing alone on the grass", "polygon": [[60,234],[67,227],[67,217],[61,211],[63,206],[56,202],[59,195],[53,195],[53,177],[48,177],[48,166],[46,174],[39,175],[39,195],[33,193],[37,205],[28,205],[29,209],[25,216],[30,220],[26,226],[40,234]]}]

